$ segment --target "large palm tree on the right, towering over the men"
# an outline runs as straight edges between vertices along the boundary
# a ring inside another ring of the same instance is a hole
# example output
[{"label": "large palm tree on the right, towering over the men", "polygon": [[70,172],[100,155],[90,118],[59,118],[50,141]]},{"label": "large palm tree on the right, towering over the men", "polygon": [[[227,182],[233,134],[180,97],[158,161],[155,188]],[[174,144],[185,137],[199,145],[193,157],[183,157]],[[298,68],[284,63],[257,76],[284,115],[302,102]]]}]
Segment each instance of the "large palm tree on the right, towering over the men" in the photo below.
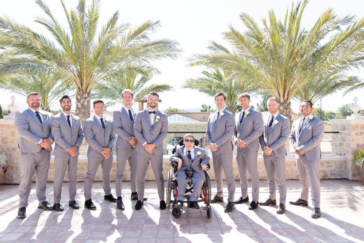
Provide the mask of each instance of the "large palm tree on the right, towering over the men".
[{"label": "large palm tree on the right, towering over the men", "polygon": [[269,24],[262,19],[262,27],[241,13],[247,30],[241,33],[229,25],[223,33],[231,50],[211,41],[211,53],[191,56],[189,65],[223,68],[249,80],[276,97],[281,114],[290,118],[290,102],[302,87],[323,74],[332,77],[363,64],[364,18],[338,17],[327,9],[305,30],[301,19],[307,3],[292,4],[283,22],[269,11]]}]

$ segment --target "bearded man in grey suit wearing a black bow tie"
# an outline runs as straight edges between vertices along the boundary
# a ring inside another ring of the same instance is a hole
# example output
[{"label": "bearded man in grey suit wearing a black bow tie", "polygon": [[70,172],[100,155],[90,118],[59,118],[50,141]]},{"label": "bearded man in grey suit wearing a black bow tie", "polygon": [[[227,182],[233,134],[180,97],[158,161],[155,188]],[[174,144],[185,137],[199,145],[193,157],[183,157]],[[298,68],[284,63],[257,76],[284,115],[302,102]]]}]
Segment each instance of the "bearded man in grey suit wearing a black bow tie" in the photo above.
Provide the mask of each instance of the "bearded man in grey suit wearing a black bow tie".
[{"label": "bearded man in grey suit wearing a black bow tie", "polygon": [[138,201],[135,204],[137,210],[141,209],[143,205],[145,176],[149,161],[157,184],[160,200],[159,208],[161,210],[166,208],[163,179],[163,140],[168,132],[168,117],[166,113],[157,109],[158,101],[158,93],[155,91],[150,92],[147,99],[148,108],[135,117],[134,133],[138,140],[135,149],[138,153]]}]

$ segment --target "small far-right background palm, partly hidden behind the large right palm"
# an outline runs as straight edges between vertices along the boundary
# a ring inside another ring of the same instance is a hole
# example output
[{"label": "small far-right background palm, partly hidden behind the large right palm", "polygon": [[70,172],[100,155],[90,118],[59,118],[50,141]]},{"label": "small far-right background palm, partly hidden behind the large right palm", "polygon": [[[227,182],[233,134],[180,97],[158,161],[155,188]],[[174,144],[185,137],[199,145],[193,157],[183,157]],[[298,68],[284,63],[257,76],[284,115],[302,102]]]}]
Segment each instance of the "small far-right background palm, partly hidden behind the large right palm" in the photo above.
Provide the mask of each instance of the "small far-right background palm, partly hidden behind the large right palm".
[{"label": "small far-right background palm, partly hidden behind the large right palm", "polygon": [[308,83],[308,85],[297,91],[293,99],[298,102],[308,99],[314,104],[320,99],[332,95],[338,90],[353,86],[358,82],[360,82],[360,79],[356,76],[335,74],[329,78],[317,79]]}]

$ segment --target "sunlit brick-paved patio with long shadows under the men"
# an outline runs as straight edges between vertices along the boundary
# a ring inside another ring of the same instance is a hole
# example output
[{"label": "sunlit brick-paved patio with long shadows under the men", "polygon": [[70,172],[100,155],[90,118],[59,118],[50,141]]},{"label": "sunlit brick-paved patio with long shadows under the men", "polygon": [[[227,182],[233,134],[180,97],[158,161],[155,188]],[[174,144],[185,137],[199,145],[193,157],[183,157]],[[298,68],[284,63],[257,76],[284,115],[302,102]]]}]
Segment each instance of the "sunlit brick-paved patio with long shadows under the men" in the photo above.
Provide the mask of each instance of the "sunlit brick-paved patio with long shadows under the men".
[{"label": "sunlit brick-paved patio with long shadows under the men", "polygon": [[[214,181],[211,184],[214,195]],[[124,185],[125,211],[116,209],[115,203],[104,201],[102,183],[95,182],[96,211],[83,206],[83,183],[77,184],[76,200],[80,209],[68,207],[68,184],[64,183],[61,204],[65,210],[56,212],[37,209],[33,183],[25,219],[16,218],[19,185],[0,185],[0,242],[364,242],[364,185],[358,181],[321,180],[323,213],[319,219],[310,217],[311,206],[288,203],[284,215],[276,213],[277,206],[250,211],[248,204],[237,205],[233,212],[224,213],[226,203],[218,203],[211,204],[211,219],[207,219],[202,209],[183,209],[182,216],[174,219],[170,210],[159,210],[154,181],[147,182],[145,196],[149,200],[139,211],[134,209],[136,201],[130,201],[130,185],[127,182]],[[237,199],[240,196],[238,181],[236,185]],[[288,180],[287,187],[287,201],[296,199],[299,181]],[[53,183],[48,183],[50,203],[53,203],[52,190]],[[224,196],[226,200],[227,193]],[[262,180],[260,200],[267,197],[268,184]]]}]

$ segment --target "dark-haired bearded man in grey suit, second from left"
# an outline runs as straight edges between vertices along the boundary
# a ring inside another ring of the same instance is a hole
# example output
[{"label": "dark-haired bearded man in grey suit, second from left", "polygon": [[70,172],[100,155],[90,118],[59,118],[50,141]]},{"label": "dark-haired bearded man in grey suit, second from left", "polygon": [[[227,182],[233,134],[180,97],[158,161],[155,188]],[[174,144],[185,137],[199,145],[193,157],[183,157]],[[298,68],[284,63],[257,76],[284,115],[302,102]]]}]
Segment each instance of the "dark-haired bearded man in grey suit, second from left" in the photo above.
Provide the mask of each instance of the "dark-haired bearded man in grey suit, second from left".
[{"label": "dark-haired bearded man in grey suit, second from left", "polygon": [[52,117],[51,131],[54,141],[54,209],[63,211],[60,204],[62,183],[68,165],[68,190],[70,201],[68,205],[74,209],[79,209],[76,203],[76,183],[77,183],[77,164],[80,146],[83,140],[83,130],[81,120],[78,116],[72,115],[72,102],[68,95],[63,95],[59,100],[62,111]]}]

